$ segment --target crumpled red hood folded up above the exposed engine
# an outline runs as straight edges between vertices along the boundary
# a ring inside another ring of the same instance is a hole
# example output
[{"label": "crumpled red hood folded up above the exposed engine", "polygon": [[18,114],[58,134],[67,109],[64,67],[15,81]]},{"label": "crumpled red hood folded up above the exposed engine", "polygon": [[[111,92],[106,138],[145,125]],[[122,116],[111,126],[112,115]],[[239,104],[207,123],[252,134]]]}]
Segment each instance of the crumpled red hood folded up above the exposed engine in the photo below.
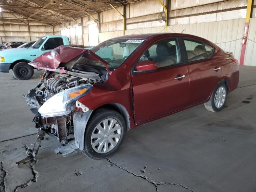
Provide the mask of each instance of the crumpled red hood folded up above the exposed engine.
[{"label": "crumpled red hood folded up above the exposed engine", "polygon": [[86,58],[94,60],[96,62],[100,62],[106,67],[106,70],[110,74],[111,72],[108,69],[107,62],[96,55],[94,52],[84,49],[84,48],[77,48],[77,47],[70,47],[70,46],[58,46],[57,48],[46,52],[37,58],[35,58],[29,64],[38,69],[45,69],[49,71],[55,71],[59,73],[66,73],[64,67],[58,68],[60,63],[66,63],[72,60],[73,58],[86,53]]}]

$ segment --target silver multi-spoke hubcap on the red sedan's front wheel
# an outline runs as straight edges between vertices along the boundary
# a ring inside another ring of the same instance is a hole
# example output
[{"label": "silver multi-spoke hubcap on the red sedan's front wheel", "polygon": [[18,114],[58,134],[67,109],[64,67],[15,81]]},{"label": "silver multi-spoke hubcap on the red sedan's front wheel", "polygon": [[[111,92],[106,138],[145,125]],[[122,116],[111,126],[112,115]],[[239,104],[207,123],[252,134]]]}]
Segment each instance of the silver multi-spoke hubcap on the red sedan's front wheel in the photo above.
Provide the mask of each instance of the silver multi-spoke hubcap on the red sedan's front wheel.
[{"label": "silver multi-spoke hubcap on the red sedan's front wheel", "polygon": [[117,120],[112,118],[102,120],[92,132],[92,148],[97,153],[110,152],[118,144],[121,132]]}]

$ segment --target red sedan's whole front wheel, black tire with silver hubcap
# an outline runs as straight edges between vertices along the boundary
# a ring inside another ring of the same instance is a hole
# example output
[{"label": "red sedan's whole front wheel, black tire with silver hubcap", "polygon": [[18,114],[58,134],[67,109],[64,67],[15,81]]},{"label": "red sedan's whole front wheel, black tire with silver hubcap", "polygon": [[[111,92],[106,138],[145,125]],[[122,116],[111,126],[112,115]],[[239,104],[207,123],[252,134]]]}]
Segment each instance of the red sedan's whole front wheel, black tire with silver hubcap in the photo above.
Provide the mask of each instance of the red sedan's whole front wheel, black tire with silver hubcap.
[{"label": "red sedan's whole front wheel, black tire with silver hubcap", "polygon": [[106,158],[114,153],[124,140],[124,118],[114,110],[97,110],[87,125],[84,153],[92,159]]}]

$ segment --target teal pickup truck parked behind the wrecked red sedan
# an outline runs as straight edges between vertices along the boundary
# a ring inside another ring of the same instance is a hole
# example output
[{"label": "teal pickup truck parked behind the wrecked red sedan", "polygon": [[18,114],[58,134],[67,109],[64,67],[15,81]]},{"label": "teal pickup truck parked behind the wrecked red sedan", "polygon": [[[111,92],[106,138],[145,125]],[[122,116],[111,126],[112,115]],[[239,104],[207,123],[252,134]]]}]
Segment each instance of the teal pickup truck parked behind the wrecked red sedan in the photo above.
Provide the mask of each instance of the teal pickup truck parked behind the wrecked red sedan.
[{"label": "teal pickup truck parked behind the wrecked red sedan", "polygon": [[8,73],[12,69],[15,78],[30,79],[34,74],[34,68],[28,63],[60,45],[70,45],[68,37],[62,35],[42,36],[31,48],[1,50],[0,72]]}]

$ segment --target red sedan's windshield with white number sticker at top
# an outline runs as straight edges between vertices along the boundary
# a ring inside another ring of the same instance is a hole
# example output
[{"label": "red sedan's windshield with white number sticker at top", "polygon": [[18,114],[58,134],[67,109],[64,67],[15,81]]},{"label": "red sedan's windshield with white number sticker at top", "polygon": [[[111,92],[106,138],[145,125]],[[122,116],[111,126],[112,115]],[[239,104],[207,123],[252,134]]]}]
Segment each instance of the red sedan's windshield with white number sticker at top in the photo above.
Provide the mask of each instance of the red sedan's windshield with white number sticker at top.
[{"label": "red sedan's windshield with white number sticker at top", "polygon": [[107,40],[91,49],[109,63],[108,68],[114,70],[121,66],[123,62],[144,42],[142,39],[114,39]]}]

